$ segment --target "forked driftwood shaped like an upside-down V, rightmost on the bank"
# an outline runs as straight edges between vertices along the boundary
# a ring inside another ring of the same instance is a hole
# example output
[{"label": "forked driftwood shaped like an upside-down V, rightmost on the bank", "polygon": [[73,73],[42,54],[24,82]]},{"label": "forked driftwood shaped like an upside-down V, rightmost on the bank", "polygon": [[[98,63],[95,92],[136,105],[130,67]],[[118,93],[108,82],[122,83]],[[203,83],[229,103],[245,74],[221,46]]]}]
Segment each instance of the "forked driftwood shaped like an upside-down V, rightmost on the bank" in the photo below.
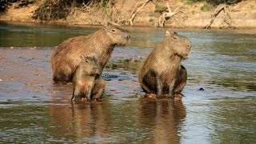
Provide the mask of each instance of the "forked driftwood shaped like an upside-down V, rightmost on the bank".
[{"label": "forked driftwood shaped like an upside-down V, rightmost on the bank", "polygon": [[214,23],[215,18],[217,18],[218,14],[220,14],[221,12],[224,12],[224,18],[222,23],[220,24],[220,26],[218,26],[219,28],[222,28],[224,26],[224,24],[226,23],[228,25],[228,27],[230,28],[235,28],[234,26],[232,26],[231,24],[231,18],[230,18],[230,14],[228,14],[227,9],[226,9],[226,4],[223,5],[219,5],[215,11],[214,14],[212,14],[211,16],[211,20],[210,22],[206,25],[206,27],[204,27],[205,29],[210,29],[210,26]]}]

